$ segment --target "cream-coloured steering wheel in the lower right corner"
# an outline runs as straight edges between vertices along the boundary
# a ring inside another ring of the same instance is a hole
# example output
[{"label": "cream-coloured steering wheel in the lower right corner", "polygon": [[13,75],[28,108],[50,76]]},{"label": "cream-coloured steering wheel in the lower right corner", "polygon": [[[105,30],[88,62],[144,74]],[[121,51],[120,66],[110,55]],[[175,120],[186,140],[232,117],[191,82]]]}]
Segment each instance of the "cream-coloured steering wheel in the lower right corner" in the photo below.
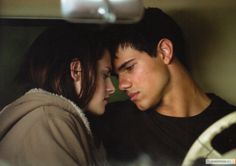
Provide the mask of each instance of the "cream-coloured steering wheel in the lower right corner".
[{"label": "cream-coloured steering wheel in the lower right corner", "polygon": [[197,159],[200,158],[211,158],[211,159],[223,159],[223,158],[235,158],[236,149],[233,149],[225,154],[220,154],[211,145],[211,141],[215,136],[220,134],[223,130],[236,124],[236,111],[227,114],[209,128],[207,128],[193,143],[189,149],[182,166],[191,166]]}]

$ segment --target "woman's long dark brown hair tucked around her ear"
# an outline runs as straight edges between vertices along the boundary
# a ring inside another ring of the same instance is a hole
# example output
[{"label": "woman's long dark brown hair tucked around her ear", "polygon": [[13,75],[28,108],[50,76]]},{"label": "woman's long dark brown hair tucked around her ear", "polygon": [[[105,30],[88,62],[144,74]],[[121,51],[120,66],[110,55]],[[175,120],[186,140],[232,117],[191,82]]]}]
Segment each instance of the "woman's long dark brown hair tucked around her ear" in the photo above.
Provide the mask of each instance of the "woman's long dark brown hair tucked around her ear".
[{"label": "woman's long dark brown hair tucked around her ear", "polygon": [[[41,88],[63,95],[85,108],[96,88],[97,61],[103,47],[99,31],[92,25],[66,25],[49,28],[32,43],[22,63],[17,81],[24,90]],[[75,91],[70,63],[81,64],[81,92]]]}]

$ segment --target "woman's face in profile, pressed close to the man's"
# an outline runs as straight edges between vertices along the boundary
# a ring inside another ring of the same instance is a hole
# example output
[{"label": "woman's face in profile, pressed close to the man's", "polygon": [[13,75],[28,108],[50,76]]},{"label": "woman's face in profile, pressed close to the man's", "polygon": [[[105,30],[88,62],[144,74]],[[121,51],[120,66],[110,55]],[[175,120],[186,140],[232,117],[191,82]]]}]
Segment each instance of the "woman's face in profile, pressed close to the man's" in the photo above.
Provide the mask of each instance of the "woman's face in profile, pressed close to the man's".
[{"label": "woman's face in profile, pressed close to the man's", "polygon": [[93,114],[103,114],[110,95],[115,92],[110,72],[111,57],[108,51],[105,51],[102,59],[98,61],[96,90],[88,104],[88,111]]}]

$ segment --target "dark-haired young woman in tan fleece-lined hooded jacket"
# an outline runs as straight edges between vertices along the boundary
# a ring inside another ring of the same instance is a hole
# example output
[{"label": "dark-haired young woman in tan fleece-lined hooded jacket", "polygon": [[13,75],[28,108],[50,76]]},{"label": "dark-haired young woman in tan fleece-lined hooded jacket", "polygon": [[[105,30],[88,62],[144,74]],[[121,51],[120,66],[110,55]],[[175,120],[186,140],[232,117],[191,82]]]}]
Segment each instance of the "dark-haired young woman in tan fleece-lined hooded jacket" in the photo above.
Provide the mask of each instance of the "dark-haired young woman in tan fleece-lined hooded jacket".
[{"label": "dark-haired young woman in tan fleece-lined hooded jacket", "polygon": [[51,28],[18,73],[26,93],[0,113],[0,163],[105,165],[85,112],[103,114],[114,92],[110,55],[87,26]]}]

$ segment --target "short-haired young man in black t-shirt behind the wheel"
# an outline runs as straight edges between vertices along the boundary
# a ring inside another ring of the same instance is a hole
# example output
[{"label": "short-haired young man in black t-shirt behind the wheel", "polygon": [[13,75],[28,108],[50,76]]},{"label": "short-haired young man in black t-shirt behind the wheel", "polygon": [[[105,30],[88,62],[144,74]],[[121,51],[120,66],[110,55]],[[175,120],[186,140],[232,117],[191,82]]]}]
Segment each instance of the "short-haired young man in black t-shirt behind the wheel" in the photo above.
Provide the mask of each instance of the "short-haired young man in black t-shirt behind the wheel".
[{"label": "short-haired young man in black t-shirt behind the wheel", "polygon": [[100,122],[112,165],[180,165],[196,138],[236,107],[191,78],[182,31],[161,10],[108,34],[119,89],[135,104],[110,104]]}]

